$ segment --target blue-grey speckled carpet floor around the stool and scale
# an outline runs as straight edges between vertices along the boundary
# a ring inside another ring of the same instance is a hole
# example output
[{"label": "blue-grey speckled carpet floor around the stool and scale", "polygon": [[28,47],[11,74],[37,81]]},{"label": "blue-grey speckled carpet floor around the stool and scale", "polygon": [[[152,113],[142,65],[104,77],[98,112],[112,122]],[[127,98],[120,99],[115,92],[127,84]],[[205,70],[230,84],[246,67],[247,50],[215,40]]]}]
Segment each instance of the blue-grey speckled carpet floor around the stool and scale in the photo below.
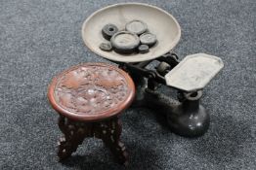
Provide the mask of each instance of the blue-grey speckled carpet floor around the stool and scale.
[{"label": "blue-grey speckled carpet floor around the stool and scale", "polygon": [[[123,114],[129,169],[256,169],[255,0],[140,2],[177,18],[180,56],[210,53],[221,57],[225,68],[204,90],[211,125],[203,137],[179,137],[146,109]],[[59,163],[61,132],[46,97],[58,72],[82,62],[106,62],[84,47],[80,30],[86,17],[113,3],[0,1],[0,169],[123,169],[93,139]]]}]

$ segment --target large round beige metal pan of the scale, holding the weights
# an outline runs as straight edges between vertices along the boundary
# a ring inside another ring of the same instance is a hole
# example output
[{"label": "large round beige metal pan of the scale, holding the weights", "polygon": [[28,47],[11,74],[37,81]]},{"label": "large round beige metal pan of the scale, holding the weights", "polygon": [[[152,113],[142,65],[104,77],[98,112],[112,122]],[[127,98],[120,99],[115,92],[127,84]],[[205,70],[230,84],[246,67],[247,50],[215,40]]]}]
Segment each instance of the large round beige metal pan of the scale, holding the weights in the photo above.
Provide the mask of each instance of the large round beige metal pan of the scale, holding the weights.
[{"label": "large round beige metal pan of the scale, holding the weights", "polygon": [[[139,19],[148,25],[149,32],[156,35],[158,44],[148,53],[131,53],[123,55],[115,51],[102,51],[101,43],[106,42],[102,28],[112,23],[119,30],[125,29],[129,21]],[[85,45],[95,53],[112,61],[141,62],[157,58],[171,51],[179,42],[181,28],[177,20],[169,13],[157,7],[141,3],[124,3],[108,6],[88,17],[82,26],[82,37]]]}]

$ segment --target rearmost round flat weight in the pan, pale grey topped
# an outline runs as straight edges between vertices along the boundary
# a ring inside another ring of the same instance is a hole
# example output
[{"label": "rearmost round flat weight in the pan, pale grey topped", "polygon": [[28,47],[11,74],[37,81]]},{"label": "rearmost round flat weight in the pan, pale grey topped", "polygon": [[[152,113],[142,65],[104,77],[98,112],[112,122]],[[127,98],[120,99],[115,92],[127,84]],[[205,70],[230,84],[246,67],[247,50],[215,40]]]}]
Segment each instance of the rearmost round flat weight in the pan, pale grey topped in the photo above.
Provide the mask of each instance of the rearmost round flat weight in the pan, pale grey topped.
[{"label": "rearmost round flat weight in the pan, pale grey topped", "polygon": [[147,29],[148,29],[147,24],[141,20],[132,20],[125,25],[126,31],[135,33],[137,35],[141,35],[145,33]]}]

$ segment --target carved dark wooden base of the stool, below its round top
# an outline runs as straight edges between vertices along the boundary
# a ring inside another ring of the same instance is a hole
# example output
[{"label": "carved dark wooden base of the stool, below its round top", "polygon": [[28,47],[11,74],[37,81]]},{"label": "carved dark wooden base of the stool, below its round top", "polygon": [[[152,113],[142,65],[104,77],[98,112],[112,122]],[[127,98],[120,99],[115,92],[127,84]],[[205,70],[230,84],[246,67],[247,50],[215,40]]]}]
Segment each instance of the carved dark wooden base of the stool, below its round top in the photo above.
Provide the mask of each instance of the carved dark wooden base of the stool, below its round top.
[{"label": "carved dark wooden base of the stool, below its round top", "polygon": [[74,153],[85,138],[96,137],[103,140],[118,163],[128,164],[128,154],[123,143],[120,142],[122,127],[118,117],[98,122],[84,122],[67,119],[60,115],[59,127],[64,133],[64,138],[61,138],[59,142],[60,160]]}]

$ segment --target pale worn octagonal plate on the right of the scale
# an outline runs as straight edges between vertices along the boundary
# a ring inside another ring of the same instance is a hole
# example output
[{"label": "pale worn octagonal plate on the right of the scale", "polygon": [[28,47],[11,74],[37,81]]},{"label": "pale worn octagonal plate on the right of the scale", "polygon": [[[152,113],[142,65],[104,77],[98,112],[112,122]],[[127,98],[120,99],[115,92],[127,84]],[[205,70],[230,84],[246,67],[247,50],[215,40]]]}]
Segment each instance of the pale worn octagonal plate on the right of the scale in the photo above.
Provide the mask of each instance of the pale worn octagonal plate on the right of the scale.
[{"label": "pale worn octagonal plate on the right of the scale", "polygon": [[166,85],[185,91],[202,89],[223,67],[217,56],[205,53],[188,55],[165,75]]}]

